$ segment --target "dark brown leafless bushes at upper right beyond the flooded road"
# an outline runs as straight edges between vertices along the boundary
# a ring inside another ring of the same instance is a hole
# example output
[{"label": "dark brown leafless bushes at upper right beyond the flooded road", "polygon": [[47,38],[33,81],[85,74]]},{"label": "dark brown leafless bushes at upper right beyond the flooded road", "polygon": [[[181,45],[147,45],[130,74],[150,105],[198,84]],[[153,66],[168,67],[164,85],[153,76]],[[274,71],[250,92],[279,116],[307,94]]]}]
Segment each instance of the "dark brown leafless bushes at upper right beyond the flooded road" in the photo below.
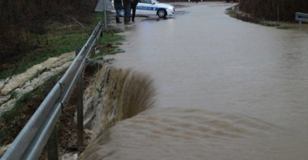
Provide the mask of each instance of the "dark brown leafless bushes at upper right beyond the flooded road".
[{"label": "dark brown leafless bushes at upper right beyond the flooded road", "polygon": [[308,0],[240,0],[240,10],[271,21],[294,21],[295,12],[308,13]]}]

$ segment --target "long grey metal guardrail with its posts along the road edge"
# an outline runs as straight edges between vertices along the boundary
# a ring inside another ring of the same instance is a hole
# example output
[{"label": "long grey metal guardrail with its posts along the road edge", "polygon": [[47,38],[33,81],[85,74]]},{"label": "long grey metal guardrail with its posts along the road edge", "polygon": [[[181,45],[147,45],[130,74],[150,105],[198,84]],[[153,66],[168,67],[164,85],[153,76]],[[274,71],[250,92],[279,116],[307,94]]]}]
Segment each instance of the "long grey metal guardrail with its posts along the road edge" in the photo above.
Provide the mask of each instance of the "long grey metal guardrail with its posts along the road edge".
[{"label": "long grey metal guardrail with its posts along the road edge", "polygon": [[[50,90],[47,97],[41,103],[35,114],[32,115],[26,126],[19,132],[16,139],[12,142],[8,150],[3,154],[4,159],[39,159],[39,156],[46,146],[48,139],[52,141],[55,134],[55,125],[59,119],[63,108],[68,104],[70,96],[77,85],[77,143],[82,146],[83,141],[83,113],[82,113],[82,76],[86,59],[92,52],[100,35],[102,34],[102,21],[100,21],[95,30],[81,48],[77,57],[70,64],[68,70],[57,84]],[[57,147],[57,142],[53,144]],[[51,144],[52,145],[52,144]],[[49,149],[48,149],[49,150]],[[56,154],[57,154],[57,149]],[[48,151],[49,152],[49,151]],[[57,159],[58,155],[53,155]]]}]

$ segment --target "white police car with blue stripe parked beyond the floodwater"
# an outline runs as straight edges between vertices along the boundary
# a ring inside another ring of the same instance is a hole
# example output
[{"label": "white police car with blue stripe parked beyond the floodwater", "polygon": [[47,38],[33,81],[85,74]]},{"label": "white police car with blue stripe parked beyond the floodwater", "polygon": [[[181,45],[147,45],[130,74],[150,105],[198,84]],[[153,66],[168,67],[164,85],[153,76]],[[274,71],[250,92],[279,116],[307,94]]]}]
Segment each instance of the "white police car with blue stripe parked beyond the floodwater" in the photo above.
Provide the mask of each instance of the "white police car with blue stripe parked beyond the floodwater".
[{"label": "white police car with blue stripe parked beyond the floodwater", "polygon": [[[113,4],[113,1],[111,1]],[[166,17],[173,15],[174,6],[167,3],[160,3],[156,0],[139,0],[136,7],[136,15],[157,15],[158,17]],[[120,16],[124,16],[124,10],[120,12]]]}]

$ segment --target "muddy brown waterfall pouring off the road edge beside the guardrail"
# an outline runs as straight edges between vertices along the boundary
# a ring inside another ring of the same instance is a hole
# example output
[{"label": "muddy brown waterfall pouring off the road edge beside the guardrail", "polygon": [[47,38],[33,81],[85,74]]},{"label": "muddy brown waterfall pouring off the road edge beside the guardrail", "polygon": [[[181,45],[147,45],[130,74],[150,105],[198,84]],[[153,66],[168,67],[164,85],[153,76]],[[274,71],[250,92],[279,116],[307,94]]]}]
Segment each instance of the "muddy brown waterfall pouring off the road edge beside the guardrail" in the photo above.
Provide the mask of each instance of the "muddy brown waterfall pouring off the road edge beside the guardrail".
[{"label": "muddy brown waterfall pouring off the road edge beside the guardrail", "polygon": [[102,128],[153,107],[149,77],[132,70],[102,66],[84,93],[84,126],[99,134]]}]

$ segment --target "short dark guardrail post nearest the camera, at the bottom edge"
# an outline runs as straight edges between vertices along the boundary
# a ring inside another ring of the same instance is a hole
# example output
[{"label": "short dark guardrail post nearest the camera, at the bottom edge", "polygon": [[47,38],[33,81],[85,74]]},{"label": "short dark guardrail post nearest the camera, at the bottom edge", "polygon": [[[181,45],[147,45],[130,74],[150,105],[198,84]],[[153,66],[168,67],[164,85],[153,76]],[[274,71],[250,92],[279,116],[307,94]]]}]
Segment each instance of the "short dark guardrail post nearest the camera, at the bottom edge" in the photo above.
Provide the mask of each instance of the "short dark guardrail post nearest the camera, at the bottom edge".
[{"label": "short dark guardrail post nearest the camera, at the bottom edge", "polygon": [[[44,92],[47,95],[52,87],[44,87]],[[46,144],[47,150],[48,150],[48,159],[49,160],[58,160],[58,145],[57,145],[57,126],[53,128],[50,137]]]}]

